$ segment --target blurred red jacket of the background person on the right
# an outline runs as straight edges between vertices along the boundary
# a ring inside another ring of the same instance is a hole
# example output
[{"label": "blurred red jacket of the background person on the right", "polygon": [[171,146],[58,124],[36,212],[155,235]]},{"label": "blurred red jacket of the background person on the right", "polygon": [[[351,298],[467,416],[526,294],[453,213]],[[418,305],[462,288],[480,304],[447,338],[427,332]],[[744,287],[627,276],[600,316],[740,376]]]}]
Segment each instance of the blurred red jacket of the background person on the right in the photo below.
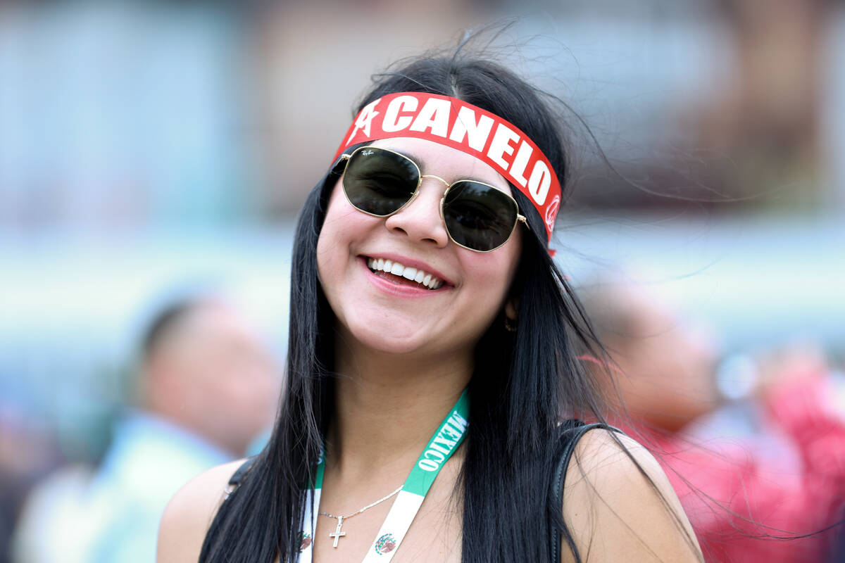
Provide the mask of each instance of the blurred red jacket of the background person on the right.
[{"label": "blurred red jacket of the background person on the right", "polygon": [[830,405],[828,383],[816,375],[793,377],[763,400],[771,431],[788,438],[797,454],[792,470],[773,467],[738,443],[717,448],[709,441],[648,436],[707,561],[830,560],[832,537],[842,527],[777,539],[818,532],[842,517],[845,420]]}]

